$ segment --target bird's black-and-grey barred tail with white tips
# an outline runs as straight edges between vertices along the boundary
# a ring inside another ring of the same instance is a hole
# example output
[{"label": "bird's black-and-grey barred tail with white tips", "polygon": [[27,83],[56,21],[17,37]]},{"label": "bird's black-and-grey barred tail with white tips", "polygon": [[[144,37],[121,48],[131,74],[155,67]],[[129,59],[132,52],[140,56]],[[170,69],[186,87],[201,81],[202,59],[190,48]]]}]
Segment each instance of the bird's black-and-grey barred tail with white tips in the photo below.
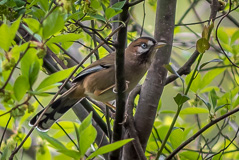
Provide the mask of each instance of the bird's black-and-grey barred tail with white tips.
[{"label": "bird's black-and-grey barred tail with white tips", "polygon": [[[46,132],[49,128],[63,115],[65,114],[74,104],[76,104],[79,99],[72,99],[68,94],[61,96],[56,101],[54,101],[47,111],[43,114],[41,120],[37,124],[37,129]],[[38,117],[45,109],[41,110],[37,115],[35,115],[31,120],[29,125],[33,126]]]}]

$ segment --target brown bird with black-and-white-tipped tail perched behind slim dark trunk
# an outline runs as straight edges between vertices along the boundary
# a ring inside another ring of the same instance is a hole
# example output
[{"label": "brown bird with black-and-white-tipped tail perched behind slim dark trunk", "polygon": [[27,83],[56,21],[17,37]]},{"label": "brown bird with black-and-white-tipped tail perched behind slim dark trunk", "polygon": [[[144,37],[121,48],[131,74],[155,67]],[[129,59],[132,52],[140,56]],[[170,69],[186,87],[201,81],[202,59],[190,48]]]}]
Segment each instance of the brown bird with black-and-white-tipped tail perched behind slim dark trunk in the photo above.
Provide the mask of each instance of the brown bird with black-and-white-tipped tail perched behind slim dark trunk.
[{"label": "brown bird with black-and-white-tipped tail perched behind slim dark trunk", "polygon": [[[140,37],[132,41],[125,49],[125,92],[129,93],[147,72],[156,51],[165,46],[151,37]],[[109,102],[116,98],[115,93],[115,57],[116,52],[96,60],[82,70],[72,81],[72,87],[56,99],[41,117],[36,128],[46,132],[71,107],[84,97]],[[29,122],[33,126],[41,110]]]}]

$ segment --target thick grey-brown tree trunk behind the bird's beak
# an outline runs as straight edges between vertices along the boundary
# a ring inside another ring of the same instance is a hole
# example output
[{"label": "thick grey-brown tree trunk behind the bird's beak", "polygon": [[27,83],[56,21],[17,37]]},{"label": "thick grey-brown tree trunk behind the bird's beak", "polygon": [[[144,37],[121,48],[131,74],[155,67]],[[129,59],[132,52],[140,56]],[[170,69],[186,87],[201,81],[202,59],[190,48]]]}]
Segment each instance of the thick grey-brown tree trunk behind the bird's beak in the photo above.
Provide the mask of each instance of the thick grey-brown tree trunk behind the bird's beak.
[{"label": "thick grey-brown tree trunk behind the bird's beak", "polygon": [[[167,76],[167,70],[164,65],[170,61],[175,11],[176,0],[158,0],[154,37],[157,41],[166,41],[168,45],[158,50],[155,56],[155,60],[142,86],[138,108],[135,113],[135,127],[144,151],[152,131],[158,102]],[[124,160],[138,159],[132,143],[124,147],[123,156]]]}]

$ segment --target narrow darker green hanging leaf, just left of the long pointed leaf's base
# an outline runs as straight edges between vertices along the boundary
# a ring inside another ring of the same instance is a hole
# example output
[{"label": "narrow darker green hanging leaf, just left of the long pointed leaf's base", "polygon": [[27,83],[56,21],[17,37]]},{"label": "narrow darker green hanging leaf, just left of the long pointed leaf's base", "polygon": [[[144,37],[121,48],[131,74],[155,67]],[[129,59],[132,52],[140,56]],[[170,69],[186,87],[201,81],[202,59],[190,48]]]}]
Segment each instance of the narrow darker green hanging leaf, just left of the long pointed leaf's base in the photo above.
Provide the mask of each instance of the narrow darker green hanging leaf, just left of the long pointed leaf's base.
[{"label": "narrow darker green hanging leaf, just left of the long pointed leaf's base", "polygon": [[35,61],[31,64],[30,69],[29,69],[29,83],[30,86],[33,86],[35,83],[38,73],[40,71],[40,63],[37,58],[35,58]]}]

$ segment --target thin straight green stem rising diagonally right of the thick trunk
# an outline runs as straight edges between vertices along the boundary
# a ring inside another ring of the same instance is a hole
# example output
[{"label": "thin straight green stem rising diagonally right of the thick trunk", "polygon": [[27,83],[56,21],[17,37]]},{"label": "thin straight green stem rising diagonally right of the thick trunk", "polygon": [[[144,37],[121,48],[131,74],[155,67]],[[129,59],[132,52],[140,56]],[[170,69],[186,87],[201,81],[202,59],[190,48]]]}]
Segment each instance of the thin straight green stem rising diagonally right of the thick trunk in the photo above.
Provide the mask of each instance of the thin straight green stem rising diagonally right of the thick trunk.
[{"label": "thin straight green stem rising diagonally right of the thick trunk", "polygon": [[[189,83],[188,83],[187,89],[186,89],[186,91],[185,91],[185,95],[187,95],[188,92],[189,92],[189,89],[190,89],[190,87],[191,87],[191,85],[192,85],[192,82],[193,82],[193,80],[194,80],[194,76],[196,75],[196,72],[197,72],[198,66],[199,66],[199,64],[200,64],[200,61],[201,61],[201,59],[202,59],[202,56],[203,56],[203,54],[201,54],[201,55],[199,56],[198,63],[197,63],[197,65],[196,65],[196,67],[195,67],[195,69],[194,69],[194,71],[193,71],[192,77],[190,78],[190,81],[189,81]],[[170,125],[170,127],[169,127],[169,130],[168,130],[168,132],[167,132],[167,135],[166,135],[166,137],[164,138],[164,140],[163,140],[163,142],[162,142],[161,148],[160,148],[160,150],[159,150],[158,153],[157,153],[156,159],[158,159],[159,156],[161,155],[161,153],[162,153],[162,151],[163,151],[163,149],[164,149],[164,147],[165,147],[165,145],[166,145],[166,143],[167,143],[167,140],[168,140],[168,138],[169,138],[169,136],[170,136],[170,134],[171,134],[171,132],[172,132],[172,130],[173,130],[173,127],[174,127],[174,125],[175,125],[175,123],[176,123],[176,121],[177,121],[177,118],[178,118],[178,116],[179,116],[179,113],[180,113],[182,107],[183,107],[183,104],[181,104],[180,106],[178,106],[178,110],[177,110],[177,112],[176,112],[176,114],[175,114],[175,116],[174,116],[174,118],[173,118],[173,122],[171,123],[171,125]]]}]

